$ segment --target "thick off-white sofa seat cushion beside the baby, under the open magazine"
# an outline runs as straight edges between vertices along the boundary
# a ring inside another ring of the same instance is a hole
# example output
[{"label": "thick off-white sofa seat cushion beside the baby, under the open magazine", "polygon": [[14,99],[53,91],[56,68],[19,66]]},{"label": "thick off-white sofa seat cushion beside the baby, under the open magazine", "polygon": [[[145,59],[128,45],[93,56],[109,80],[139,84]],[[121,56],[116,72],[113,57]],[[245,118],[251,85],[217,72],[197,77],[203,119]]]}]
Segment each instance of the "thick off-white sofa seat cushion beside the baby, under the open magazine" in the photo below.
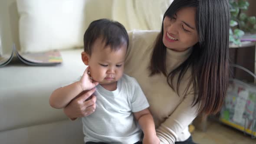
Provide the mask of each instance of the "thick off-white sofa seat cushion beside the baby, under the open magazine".
[{"label": "thick off-white sofa seat cushion beside the baby, under the open magazine", "polygon": [[0,131],[67,119],[61,109],[50,107],[49,96],[83,74],[81,52],[61,51],[63,63],[56,66],[28,66],[17,60],[0,68]]}]

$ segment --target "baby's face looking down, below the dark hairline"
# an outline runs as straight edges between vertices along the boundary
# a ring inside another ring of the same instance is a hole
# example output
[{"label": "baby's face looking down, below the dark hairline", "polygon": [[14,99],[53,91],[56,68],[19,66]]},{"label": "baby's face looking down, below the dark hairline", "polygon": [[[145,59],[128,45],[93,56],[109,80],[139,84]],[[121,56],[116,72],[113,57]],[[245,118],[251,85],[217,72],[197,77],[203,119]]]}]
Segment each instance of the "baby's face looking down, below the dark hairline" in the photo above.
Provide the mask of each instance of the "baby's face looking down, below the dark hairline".
[{"label": "baby's face looking down, below the dark hairline", "polygon": [[92,79],[101,85],[112,84],[121,79],[126,50],[126,44],[115,51],[110,46],[105,47],[105,43],[96,40],[88,62]]}]

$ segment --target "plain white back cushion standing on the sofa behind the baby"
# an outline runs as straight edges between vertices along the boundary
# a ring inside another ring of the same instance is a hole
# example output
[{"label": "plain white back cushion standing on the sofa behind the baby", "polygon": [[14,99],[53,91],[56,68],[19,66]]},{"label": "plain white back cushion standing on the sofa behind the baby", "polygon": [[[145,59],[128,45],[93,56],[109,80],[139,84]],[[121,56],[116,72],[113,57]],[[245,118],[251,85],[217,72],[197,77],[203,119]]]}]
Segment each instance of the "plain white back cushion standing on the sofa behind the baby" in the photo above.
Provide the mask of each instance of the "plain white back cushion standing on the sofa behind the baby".
[{"label": "plain white back cushion standing on the sofa behind the baby", "polygon": [[22,52],[83,46],[85,0],[17,0]]}]

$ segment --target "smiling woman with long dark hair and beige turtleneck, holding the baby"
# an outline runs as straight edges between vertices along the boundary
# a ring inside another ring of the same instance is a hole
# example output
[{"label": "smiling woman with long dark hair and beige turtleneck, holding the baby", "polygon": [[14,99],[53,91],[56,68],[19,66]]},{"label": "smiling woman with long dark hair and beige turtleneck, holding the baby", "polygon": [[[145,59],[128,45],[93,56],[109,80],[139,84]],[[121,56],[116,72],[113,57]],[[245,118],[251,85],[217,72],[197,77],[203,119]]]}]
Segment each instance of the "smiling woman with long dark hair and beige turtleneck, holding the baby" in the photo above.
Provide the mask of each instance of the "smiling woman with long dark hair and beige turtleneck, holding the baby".
[{"label": "smiling woman with long dark hair and beige turtleneck, holding the baby", "polygon": [[[228,82],[228,0],[174,0],[161,32],[129,33],[125,73],[148,98],[161,144],[193,144],[188,125],[220,110]],[[93,90],[74,99],[69,118],[90,115]]]}]

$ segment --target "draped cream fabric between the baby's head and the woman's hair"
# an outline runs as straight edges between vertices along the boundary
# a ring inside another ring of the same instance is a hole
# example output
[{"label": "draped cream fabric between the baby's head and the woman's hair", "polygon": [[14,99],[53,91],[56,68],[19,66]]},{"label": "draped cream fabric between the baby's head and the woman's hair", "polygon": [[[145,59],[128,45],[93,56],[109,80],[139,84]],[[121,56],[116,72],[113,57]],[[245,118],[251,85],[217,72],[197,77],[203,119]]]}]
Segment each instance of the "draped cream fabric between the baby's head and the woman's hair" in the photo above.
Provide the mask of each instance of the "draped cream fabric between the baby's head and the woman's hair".
[{"label": "draped cream fabric between the baby's head and the woman's hair", "polygon": [[112,18],[128,30],[160,30],[165,10],[173,0],[114,0]]}]

